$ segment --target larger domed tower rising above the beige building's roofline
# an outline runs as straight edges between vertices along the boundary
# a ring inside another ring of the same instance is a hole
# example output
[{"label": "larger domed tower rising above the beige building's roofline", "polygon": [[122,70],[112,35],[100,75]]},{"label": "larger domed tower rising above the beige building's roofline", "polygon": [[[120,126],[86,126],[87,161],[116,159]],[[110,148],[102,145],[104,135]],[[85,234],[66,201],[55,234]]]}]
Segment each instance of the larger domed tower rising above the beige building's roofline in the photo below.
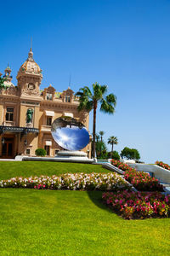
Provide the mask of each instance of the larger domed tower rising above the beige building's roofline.
[{"label": "larger domed tower rising above the beige building's roofline", "polygon": [[20,67],[17,74],[20,96],[39,96],[39,86],[42,81],[42,70],[33,59],[33,52],[30,49],[28,58]]}]

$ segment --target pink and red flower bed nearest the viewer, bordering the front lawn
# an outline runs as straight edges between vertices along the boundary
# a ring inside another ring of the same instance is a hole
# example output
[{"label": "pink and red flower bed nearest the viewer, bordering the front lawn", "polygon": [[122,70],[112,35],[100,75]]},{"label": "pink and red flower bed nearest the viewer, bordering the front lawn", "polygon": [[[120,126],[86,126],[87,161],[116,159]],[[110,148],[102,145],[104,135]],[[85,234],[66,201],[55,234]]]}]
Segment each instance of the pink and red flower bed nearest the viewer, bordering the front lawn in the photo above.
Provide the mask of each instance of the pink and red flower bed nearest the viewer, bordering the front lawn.
[{"label": "pink and red flower bed nearest the viewer, bordering the front lawn", "polygon": [[169,217],[170,195],[160,192],[106,192],[102,196],[105,203],[123,218]]}]

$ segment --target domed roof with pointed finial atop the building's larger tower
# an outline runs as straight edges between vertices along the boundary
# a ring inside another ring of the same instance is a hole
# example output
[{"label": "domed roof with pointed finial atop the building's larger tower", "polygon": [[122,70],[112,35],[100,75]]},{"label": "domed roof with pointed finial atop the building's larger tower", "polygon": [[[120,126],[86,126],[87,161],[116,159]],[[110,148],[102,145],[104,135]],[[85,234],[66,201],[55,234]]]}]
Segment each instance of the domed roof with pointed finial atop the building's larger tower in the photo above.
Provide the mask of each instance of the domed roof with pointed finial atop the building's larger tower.
[{"label": "domed roof with pointed finial atop the building's larger tower", "polygon": [[42,73],[41,68],[37,65],[37,63],[33,59],[32,49],[30,49],[30,52],[28,54],[28,59],[20,67],[20,71],[22,73],[32,73],[32,74],[40,74],[40,73]]}]

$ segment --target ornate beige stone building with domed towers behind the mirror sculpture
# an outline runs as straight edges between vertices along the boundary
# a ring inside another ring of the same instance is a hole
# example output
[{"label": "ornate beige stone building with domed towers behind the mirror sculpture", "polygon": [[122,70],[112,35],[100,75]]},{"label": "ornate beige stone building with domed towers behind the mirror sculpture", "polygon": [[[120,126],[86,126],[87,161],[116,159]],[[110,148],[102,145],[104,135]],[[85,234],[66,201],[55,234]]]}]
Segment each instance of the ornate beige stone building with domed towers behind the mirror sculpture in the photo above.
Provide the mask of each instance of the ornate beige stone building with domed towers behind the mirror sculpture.
[{"label": "ornate beige stone building with domed towers behind the mirror sculpture", "polygon": [[[40,90],[42,70],[33,60],[30,49],[26,62],[17,74],[18,85],[12,83],[11,69],[5,69],[5,89],[0,90],[0,158],[35,155],[45,148],[54,156],[62,149],[51,136],[51,124],[60,116],[71,116],[88,128],[87,112],[78,113],[78,99],[68,88],[56,92],[50,84]],[[90,143],[83,151],[90,156]]]}]

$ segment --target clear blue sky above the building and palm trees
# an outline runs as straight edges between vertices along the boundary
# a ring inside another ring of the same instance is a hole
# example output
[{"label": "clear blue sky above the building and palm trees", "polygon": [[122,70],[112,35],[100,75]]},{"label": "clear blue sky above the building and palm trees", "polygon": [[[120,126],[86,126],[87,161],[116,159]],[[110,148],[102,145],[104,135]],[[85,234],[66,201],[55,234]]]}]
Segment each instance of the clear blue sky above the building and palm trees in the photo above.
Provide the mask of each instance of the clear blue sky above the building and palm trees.
[{"label": "clear blue sky above the building and palm trees", "polygon": [[74,91],[108,84],[116,113],[98,113],[97,131],[170,164],[169,0],[3,1],[0,24],[0,71],[9,63],[14,84],[32,37],[42,88],[65,90],[70,74]]}]

